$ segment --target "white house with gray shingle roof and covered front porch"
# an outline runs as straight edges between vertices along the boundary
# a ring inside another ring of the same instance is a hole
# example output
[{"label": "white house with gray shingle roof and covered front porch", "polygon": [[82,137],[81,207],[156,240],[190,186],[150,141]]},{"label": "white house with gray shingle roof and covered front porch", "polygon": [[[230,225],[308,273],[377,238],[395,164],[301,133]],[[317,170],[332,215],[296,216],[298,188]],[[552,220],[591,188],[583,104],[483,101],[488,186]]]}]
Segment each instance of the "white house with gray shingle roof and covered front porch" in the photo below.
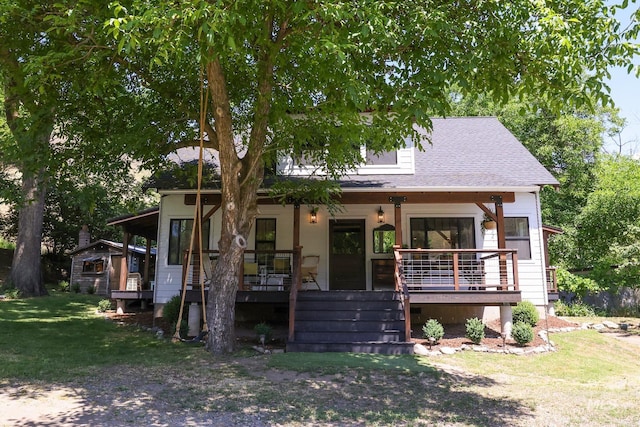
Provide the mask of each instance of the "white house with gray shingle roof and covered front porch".
[{"label": "white house with gray shingle roof and covered front porch", "polygon": [[[422,150],[410,139],[382,155],[363,145],[366,162],[340,181],[339,213],[259,194],[237,291],[246,320],[283,318],[290,351],[376,351],[372,343],[409,341],[411,323],[429,318],[500,317],[508,328],[519,301],[548,307],[540,190],[556,179],[494,117],[433,119],[418,131],[431,141]],[[289,157],[278,177],[310,171]],[[158,191],[157,311],[183,289],[201,300],[192,286],[201,263],[215,265],[221,230],[220,190],[203,188],[206,255],[186,265],[196,190]]]}]

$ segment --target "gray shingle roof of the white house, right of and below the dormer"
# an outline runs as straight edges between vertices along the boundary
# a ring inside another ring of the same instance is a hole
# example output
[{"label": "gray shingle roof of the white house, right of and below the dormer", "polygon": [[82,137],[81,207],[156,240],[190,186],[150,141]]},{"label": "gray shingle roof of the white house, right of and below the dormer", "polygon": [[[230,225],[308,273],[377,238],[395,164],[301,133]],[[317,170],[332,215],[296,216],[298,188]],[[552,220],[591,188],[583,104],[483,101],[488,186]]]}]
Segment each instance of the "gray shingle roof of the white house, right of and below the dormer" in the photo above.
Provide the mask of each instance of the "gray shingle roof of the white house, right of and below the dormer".
[{"label": "gray shingle roof of the white house, right of and below the dormer", "polygon": [[[420,128],[423,134],[427,131]],[[415,174],[354,175],[344,187],[513,188],[558,181],[495,117],[433,119],[432,144],[414,149]]]}]

